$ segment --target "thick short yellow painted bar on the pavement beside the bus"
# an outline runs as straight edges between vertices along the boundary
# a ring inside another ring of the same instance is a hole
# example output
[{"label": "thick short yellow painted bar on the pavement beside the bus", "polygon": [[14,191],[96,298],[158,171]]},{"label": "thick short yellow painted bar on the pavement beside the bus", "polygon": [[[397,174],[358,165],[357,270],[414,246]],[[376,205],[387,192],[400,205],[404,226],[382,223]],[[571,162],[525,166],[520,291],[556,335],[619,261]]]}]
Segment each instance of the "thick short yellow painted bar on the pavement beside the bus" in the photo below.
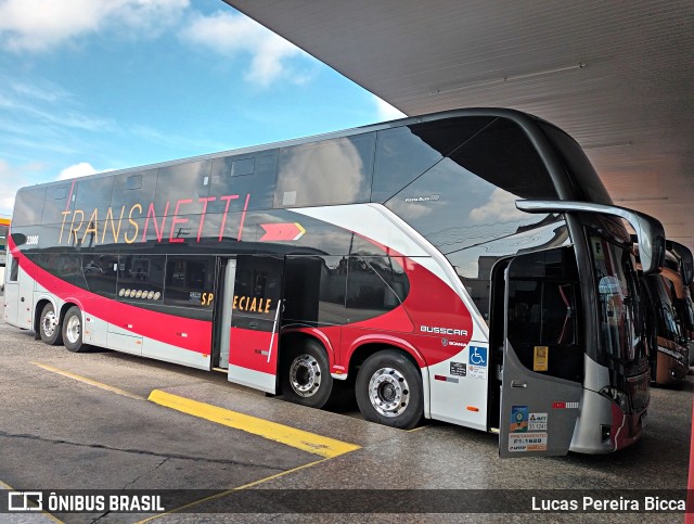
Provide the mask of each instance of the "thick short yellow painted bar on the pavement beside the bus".
[{"label": "thick short yellow painted bar on the pavement beside the bus", "polygon": [[259,435],[269,440],[282,443],[326,459],[361,448],[361,446],[357,446],[356,444],[335,440],[334,438],[297,430],[288,425],[278,424],[269,420],[258,419],[209,404],[191,400],[190,398],[179,397],[178,395],[172,395],[162,389],[154,389],[147,400],[183,413],[192,414],[193,417]]}]

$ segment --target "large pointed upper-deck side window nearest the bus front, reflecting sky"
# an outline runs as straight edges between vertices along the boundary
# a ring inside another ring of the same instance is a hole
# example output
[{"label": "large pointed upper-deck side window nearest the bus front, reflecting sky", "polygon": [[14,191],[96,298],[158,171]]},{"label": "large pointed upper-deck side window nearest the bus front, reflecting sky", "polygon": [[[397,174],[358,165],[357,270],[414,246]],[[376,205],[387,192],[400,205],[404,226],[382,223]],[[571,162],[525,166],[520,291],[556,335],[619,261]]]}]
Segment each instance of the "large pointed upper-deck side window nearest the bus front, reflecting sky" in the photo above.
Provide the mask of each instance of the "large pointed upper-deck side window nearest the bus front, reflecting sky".
[{"label": "large pointed upper-deck side window nearest the bus front, reflecting sky", "polygon": [[486,316],[497,259],[561,245],[568,234],[561,216],[530,215],[515,206],[518,199],[557,197],[520,127],[497,118],[459,143],[386,206],[447,256]]}]

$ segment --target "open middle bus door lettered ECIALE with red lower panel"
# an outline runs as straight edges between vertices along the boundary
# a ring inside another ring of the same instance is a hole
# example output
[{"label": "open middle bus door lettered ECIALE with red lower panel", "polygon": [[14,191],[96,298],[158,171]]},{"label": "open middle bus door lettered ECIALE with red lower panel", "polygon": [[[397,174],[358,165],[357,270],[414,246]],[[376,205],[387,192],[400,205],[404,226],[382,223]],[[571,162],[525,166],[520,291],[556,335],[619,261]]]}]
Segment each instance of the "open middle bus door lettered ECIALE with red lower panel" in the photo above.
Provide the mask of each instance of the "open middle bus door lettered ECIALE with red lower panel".
[{"label": "open middle bus door lettered ECIALE with red lower panel", "polygon": [[240,255],[224,271],[220,358],[228,358],[229,381],[272,394],[283,273],[284,257],[270,255]]}]

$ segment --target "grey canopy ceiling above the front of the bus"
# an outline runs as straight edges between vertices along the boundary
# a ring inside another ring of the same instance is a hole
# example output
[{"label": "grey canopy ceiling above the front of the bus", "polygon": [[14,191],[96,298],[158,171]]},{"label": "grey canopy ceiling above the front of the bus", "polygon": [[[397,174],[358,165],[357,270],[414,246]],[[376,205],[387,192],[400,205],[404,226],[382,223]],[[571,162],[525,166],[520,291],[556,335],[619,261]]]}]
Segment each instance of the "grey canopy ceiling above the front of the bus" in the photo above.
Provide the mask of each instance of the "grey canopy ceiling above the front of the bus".
[{"label": "grey canopy ceiling above the front of the bus", "polygon": [[691,0],[224,0],[408,115],[514,107],[694,250]]}]

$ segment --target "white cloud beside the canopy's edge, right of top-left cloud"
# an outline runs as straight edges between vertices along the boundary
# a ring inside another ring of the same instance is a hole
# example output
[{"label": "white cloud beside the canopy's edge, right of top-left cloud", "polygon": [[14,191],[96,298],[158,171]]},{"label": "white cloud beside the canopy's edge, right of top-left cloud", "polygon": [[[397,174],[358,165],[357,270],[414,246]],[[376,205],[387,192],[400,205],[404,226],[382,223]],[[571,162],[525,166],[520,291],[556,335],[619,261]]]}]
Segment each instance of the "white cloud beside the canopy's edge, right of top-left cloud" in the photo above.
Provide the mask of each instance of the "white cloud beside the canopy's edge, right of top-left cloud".
[{"label": "white cloud beside the canopy's edge, right of top-left cloud", "polygon": [[196,15],[181,36],[224,56],[250,55],[244,79],[260,87],[279,79],[305,84],[311,76],[288,63],[291,59],[309,57],[306,52],[243,15],[223,11],[209,16]]}]

